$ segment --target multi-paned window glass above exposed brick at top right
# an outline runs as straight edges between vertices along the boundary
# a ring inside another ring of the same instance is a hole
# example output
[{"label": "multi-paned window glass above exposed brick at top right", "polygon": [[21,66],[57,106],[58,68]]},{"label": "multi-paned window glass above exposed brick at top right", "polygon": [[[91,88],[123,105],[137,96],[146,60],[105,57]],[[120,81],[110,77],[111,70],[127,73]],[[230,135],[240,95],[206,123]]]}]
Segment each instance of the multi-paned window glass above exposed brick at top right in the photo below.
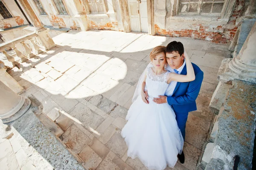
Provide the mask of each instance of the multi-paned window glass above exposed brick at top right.
[{"label": "multi-paned window glass above exposed brick at top right", "polygon": [[180,0],[179,14],[220,16],[225,0]]}]

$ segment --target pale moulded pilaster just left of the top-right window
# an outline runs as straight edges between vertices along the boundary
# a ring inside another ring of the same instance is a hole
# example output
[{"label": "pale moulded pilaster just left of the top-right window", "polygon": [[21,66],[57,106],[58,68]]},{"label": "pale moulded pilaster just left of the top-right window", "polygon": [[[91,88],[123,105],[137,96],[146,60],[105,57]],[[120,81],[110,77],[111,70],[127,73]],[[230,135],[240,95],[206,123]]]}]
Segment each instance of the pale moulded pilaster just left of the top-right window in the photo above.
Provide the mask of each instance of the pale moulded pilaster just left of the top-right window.
[{"label": "pale moulded pilaster just left of the top-right window", "polygon": [[166,0],[157,0],[155,1],[157,3],[157,11],[155,12],[157,16],[157,25],[161,29],[165,29],[166,24]]}]

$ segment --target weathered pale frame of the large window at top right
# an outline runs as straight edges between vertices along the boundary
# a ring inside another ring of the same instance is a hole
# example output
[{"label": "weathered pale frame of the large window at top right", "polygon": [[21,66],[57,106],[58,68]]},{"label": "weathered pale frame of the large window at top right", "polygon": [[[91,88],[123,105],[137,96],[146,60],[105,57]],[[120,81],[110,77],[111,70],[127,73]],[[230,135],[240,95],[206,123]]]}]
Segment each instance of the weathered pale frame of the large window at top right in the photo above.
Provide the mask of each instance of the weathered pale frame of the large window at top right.
[{"label": "weathered pale frame of the large window at top right", "polygon": [[[200,3],[202,2],[202,3]],[[171,12],[171,15],[174,17],[174,16],[177,16],[177,17],[184,17],[184,16],[195,16],[195,17],[198,17],[198,16],[204,16],[204,17],[221,17],[221,19],[229,19],[230,15],[232,14],[232,9],[233,9],[233,6],[235,5],[236,3],[236,0],[225,0],[224,1],[224,5],[222,7],[222,10],[221,10],[221,13],[203,13],[201,12],[202,10],[202,5],[203,5],[203,0],[199,0],[199,3],[198,3],[198,12],[197,14],[195,14],[194,12],[186,12],[186,13],[180,13],[179,12],[179,8],[180,8],[180,0],[175,0],[174,4],[173,4],[173,8],[172,8],[172,12]]]}]

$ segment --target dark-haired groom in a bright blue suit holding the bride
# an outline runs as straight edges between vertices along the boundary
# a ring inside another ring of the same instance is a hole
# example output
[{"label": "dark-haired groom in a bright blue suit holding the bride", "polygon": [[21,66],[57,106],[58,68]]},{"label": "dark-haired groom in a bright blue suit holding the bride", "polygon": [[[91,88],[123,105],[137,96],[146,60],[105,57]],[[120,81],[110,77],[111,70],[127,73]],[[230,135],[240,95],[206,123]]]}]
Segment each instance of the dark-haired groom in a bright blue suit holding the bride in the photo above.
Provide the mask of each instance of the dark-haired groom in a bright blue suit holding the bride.
[{"label": "dark-haired groom in a bright blue suit holding the bride", "polygon": [[[174,72],[181,75],[186,75],[186,61],[184,60],[184,47],[183,44],[177,41],[172,41],[166,46],[166,59],[169,66]],[[172,82],[168,88],[173,88],[172,96],[159,96],[154,98],[157,104],[168,103],[174,110],[178,127],[180,128],[183,140],[185,141],[185,127],[189,112],[196,110],[195,99],[201,88],[204,77],[204,72],[192,63],[195,72],[195,80],[191,82]],[[182,152],[178,155],[180,163],[184,163],[185,156]]]}]

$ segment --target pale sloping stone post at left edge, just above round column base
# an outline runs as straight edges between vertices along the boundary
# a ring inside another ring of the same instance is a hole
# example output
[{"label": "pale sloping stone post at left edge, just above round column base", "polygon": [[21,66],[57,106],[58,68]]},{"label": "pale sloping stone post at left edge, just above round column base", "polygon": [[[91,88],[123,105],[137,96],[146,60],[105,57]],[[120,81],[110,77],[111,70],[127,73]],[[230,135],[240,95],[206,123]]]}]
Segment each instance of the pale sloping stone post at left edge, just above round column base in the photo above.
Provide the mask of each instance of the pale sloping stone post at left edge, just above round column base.
[{"label": "pale sloping stone post at left edge, just above round column base", "polygon": [[[23,89],[18,82],[12,78],[11,75],[6,72],[6,67],[4,63],[0,61],[0,81],[2,81],[6,86],[8,86],[12,91],[17,94],[22,93],[25,89]],[[0,107],[1,108],[1,107]]]}]

